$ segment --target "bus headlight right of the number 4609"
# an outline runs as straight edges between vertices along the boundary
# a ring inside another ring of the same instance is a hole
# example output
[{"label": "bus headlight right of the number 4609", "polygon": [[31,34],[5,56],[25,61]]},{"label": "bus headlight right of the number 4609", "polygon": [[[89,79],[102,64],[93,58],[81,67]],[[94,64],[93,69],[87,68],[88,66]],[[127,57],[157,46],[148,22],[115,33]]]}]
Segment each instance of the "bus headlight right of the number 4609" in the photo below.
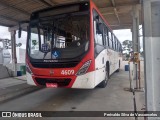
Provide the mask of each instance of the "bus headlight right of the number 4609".
[{"label": "bus headlight right of the number 4609", "polygon": [[91,60],[85,62],[85,63],[83,64],[83,66],[78,70],[78,72],[77,72],[76,75],[78,76],[78,75],[85,74],[85,73],[87,72],[90,64],[91,64]]}]

